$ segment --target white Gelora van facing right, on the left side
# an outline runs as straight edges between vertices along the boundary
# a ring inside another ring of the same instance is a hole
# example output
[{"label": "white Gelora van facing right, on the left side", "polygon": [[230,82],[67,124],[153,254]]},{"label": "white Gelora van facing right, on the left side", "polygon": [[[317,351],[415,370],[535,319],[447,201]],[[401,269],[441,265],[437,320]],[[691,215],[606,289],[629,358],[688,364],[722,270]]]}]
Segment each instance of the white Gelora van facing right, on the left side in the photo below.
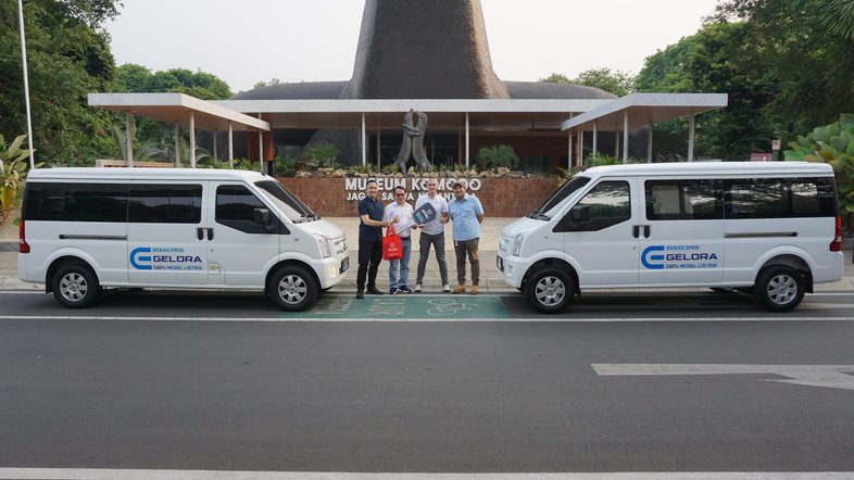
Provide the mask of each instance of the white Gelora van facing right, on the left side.
[{"label": "white Gelora van facing right, on the left side", "polygon": [[301,311],[344,279],[347,239],[276,179],[190,168],[45,168],[24,191],[17,275],[62,305],[102,288],[249,290]]}]

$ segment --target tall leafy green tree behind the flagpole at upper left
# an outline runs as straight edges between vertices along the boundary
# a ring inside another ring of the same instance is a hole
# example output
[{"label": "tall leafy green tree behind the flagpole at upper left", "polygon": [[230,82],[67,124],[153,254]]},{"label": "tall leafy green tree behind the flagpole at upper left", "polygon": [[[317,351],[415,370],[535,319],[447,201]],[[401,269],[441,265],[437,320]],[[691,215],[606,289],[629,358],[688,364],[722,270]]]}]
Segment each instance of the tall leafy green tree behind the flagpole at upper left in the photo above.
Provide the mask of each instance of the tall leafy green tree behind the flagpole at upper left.
[{"label": "tall leafy green tree behind the flagpole at upper left", "polygon": [[[114,60],[100,25],[116,14],[112,0],[25,0],[24,24],[39,162],[89,162],[112,144],[105,111],[86,96],[112,88]],[[16,2],[0,3],[0,131],[26,132],[24,77]]]}]

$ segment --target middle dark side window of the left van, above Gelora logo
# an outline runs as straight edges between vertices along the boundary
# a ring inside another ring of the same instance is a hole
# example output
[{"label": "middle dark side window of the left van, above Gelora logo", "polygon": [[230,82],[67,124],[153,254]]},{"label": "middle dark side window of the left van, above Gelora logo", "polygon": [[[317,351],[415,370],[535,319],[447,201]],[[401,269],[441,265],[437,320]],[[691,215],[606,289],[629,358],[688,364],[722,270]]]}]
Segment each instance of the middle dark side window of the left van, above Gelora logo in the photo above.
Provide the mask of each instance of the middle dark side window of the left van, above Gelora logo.
[{"label": "middle dark side window of the left van, above Gelora logo", "polygon": [[140,185],[130,188],[130,223],[198,224],[201,220],[201,185]]}]

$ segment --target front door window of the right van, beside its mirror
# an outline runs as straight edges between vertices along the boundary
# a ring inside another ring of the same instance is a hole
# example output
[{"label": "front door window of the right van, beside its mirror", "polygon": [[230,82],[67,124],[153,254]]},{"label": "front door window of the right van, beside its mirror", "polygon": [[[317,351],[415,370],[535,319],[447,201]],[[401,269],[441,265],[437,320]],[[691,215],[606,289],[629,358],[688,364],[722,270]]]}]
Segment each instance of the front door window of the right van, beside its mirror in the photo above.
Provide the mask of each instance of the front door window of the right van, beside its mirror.
[{"label": "front door window of the right van, beside its mirror", "polygon": [[631,197],[627,181],[603,181],[593,187],[573,210],[587,209],[590,220],[576,223],[568,212],[554,231],[598,231],[631,218]]}]

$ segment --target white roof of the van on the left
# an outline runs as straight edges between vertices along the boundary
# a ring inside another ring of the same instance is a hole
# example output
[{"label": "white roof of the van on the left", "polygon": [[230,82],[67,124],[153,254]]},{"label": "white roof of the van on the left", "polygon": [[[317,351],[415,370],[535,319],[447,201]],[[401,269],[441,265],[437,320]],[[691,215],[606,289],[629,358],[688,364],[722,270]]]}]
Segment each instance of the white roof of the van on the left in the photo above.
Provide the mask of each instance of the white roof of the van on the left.
[{"label": "white roof of the van on the left", "polygon": [[[223,168],[103,168],[60,167],[37,168],[27,174],[27,180],[238,180],[255,181],[266,175],[260,172]],[[267,177],[272,178],[272,177]]]}]

